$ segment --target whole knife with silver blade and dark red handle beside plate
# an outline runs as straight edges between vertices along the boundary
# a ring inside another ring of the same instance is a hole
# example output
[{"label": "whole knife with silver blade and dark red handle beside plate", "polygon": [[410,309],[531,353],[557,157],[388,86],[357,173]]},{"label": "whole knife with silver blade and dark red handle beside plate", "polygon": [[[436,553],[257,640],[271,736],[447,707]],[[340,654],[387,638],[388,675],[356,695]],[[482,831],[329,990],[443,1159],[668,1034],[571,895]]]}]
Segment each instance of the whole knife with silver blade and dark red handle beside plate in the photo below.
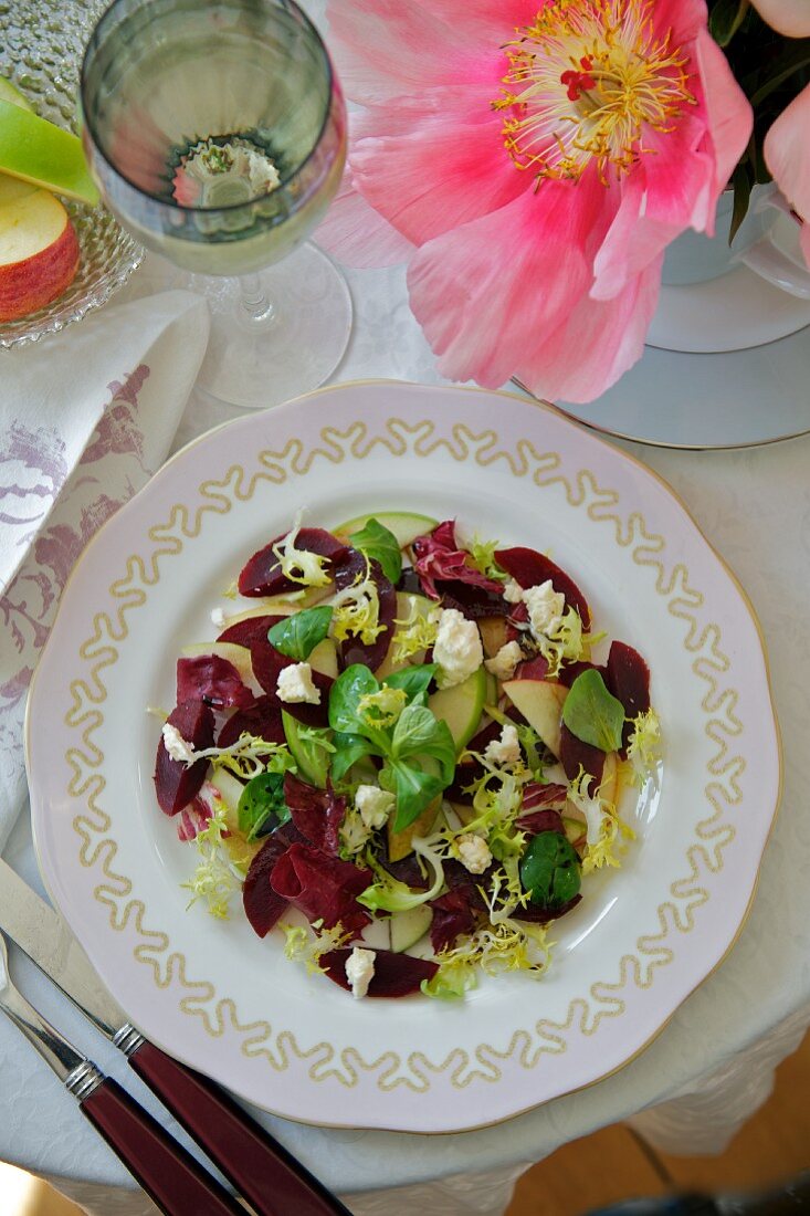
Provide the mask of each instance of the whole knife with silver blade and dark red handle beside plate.
[{"label": "whole knife with silver blade and dark red handle beside plate", "polygon": [[62,917],[0,857],[0,929],[129,1060],[259,1216],[351,1216],[218,1085],[150,1043],[102,985]]}]

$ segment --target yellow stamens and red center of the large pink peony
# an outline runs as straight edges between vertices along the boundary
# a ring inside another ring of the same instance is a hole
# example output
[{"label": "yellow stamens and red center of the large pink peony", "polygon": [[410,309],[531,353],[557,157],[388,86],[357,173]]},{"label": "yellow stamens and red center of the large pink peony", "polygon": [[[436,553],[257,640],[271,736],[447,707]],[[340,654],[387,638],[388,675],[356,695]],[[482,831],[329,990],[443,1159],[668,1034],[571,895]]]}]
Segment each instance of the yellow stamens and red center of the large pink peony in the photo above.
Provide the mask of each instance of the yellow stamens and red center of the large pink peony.
[{"label": "yellow stamens and red center of the large pink peony", "polygon": [[651,0],[553,0],[504,47],[504,142],[518,169],[573,179],[592,161],[629,173],[649,130],[674,130],[686,106],[687,57],[657,30]]}]

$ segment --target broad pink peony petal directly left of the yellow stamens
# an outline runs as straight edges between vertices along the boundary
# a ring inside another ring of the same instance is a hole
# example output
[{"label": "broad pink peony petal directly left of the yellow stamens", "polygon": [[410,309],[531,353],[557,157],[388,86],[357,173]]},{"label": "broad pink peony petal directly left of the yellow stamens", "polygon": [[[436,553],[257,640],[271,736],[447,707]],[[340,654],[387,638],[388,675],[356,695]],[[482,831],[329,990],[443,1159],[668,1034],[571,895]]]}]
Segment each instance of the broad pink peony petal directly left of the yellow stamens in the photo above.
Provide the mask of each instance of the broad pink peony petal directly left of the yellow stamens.
[{"label": "broad pink peony petal directly left of the yellow stamens", "polygon": [[468,111],[457,90],[433,90],[362,116],[350,158],[354,184],[415,244],[497,210],[525,190],[490,100],[485,90]]}]

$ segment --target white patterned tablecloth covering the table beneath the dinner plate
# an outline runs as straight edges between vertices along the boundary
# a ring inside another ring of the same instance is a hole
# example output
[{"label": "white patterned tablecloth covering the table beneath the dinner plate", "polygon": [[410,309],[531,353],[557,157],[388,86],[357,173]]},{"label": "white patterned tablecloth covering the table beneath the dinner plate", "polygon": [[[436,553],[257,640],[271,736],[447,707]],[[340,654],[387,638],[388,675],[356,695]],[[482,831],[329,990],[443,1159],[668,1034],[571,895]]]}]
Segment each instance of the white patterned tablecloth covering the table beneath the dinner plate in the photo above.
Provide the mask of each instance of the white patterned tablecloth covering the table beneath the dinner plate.
[{"label": "white patterned tablecloth covering the table beneath the dinner plate", "polygon": [[[405,303],[401,272],[364,271],[349,280],[356,320],[336,379],[387,376],[435,382],[431,353]],[[147,288],[148,265],[131,289]],[[237,412],[197,393],[178,444]],[[686,500],[747,587],[770,647],[784,741],[784,796],[749,921],[726,962],[642,1055],[609,1080],[508,1124],[428,1138],[327,1131],[263,1116],[330,1187],[351,1195],[353,1210],[361,1216],[383,1211],[398,1216],[410,1212],[415,1201],[424,1216],[495,1216],[525,1164],[625,1119],[662,1149],[718,1152],[765,1099],[774,1066],[798,1046],[810,1024],[810,438],[738,452],[626,447]],[[26,817],[6,856],[39,886]],[[12,969],[46,1014],[161,1113],[123,1059],[24,959],[15,958]],[[97,1189],[99,1184],[131,1187],[131,1180],[5,1019],[0,1076],[0,1160],[63,1180],[63,1189],[103,1216],[141,1216],[151,1210],[131,1192]],[[484,1109],[480,1116],[486,1118]],[[409,1189],[381,1195],[383,1184]]]}]

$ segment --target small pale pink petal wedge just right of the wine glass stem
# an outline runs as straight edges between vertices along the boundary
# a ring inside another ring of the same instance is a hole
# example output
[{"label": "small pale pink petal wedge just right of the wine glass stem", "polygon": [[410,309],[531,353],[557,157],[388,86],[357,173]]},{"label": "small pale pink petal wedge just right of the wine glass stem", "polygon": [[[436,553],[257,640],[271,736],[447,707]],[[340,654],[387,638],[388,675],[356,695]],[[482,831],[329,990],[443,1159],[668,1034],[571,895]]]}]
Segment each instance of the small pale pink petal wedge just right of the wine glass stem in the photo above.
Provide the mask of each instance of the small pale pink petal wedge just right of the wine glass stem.
[{"label": "small pale pink petal wedge just right of the wine glass stem", "polygon": [[407,261],[414,246],[370,207],[348,175],[326,218],[315,230],[315,240],[347,266],[398,266]]}]

